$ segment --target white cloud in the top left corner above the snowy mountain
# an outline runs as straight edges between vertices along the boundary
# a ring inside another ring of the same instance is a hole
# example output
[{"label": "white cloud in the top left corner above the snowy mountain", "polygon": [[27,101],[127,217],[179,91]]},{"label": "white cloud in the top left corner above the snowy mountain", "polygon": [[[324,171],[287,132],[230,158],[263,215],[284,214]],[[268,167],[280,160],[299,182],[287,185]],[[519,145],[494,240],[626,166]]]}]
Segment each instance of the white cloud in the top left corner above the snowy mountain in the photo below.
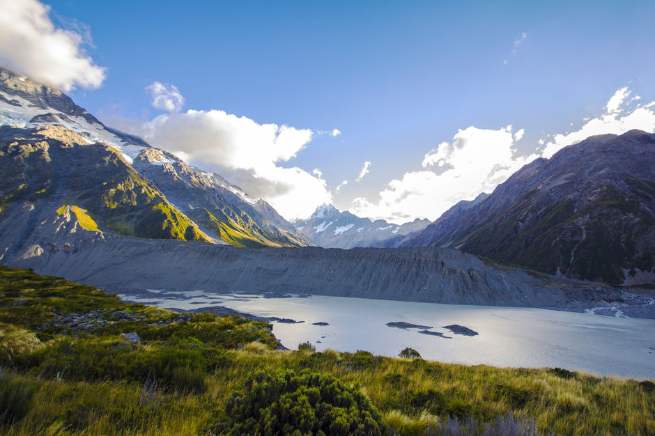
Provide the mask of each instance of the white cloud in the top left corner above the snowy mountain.
[{"label": "white cloud in the top left corner above the snowy mountain", "polygon": [[0,65],[64,91],[98,88],[105,68],[82,49],[88,33],[57,29],[49,9],[36,0],[0,0]]}]

